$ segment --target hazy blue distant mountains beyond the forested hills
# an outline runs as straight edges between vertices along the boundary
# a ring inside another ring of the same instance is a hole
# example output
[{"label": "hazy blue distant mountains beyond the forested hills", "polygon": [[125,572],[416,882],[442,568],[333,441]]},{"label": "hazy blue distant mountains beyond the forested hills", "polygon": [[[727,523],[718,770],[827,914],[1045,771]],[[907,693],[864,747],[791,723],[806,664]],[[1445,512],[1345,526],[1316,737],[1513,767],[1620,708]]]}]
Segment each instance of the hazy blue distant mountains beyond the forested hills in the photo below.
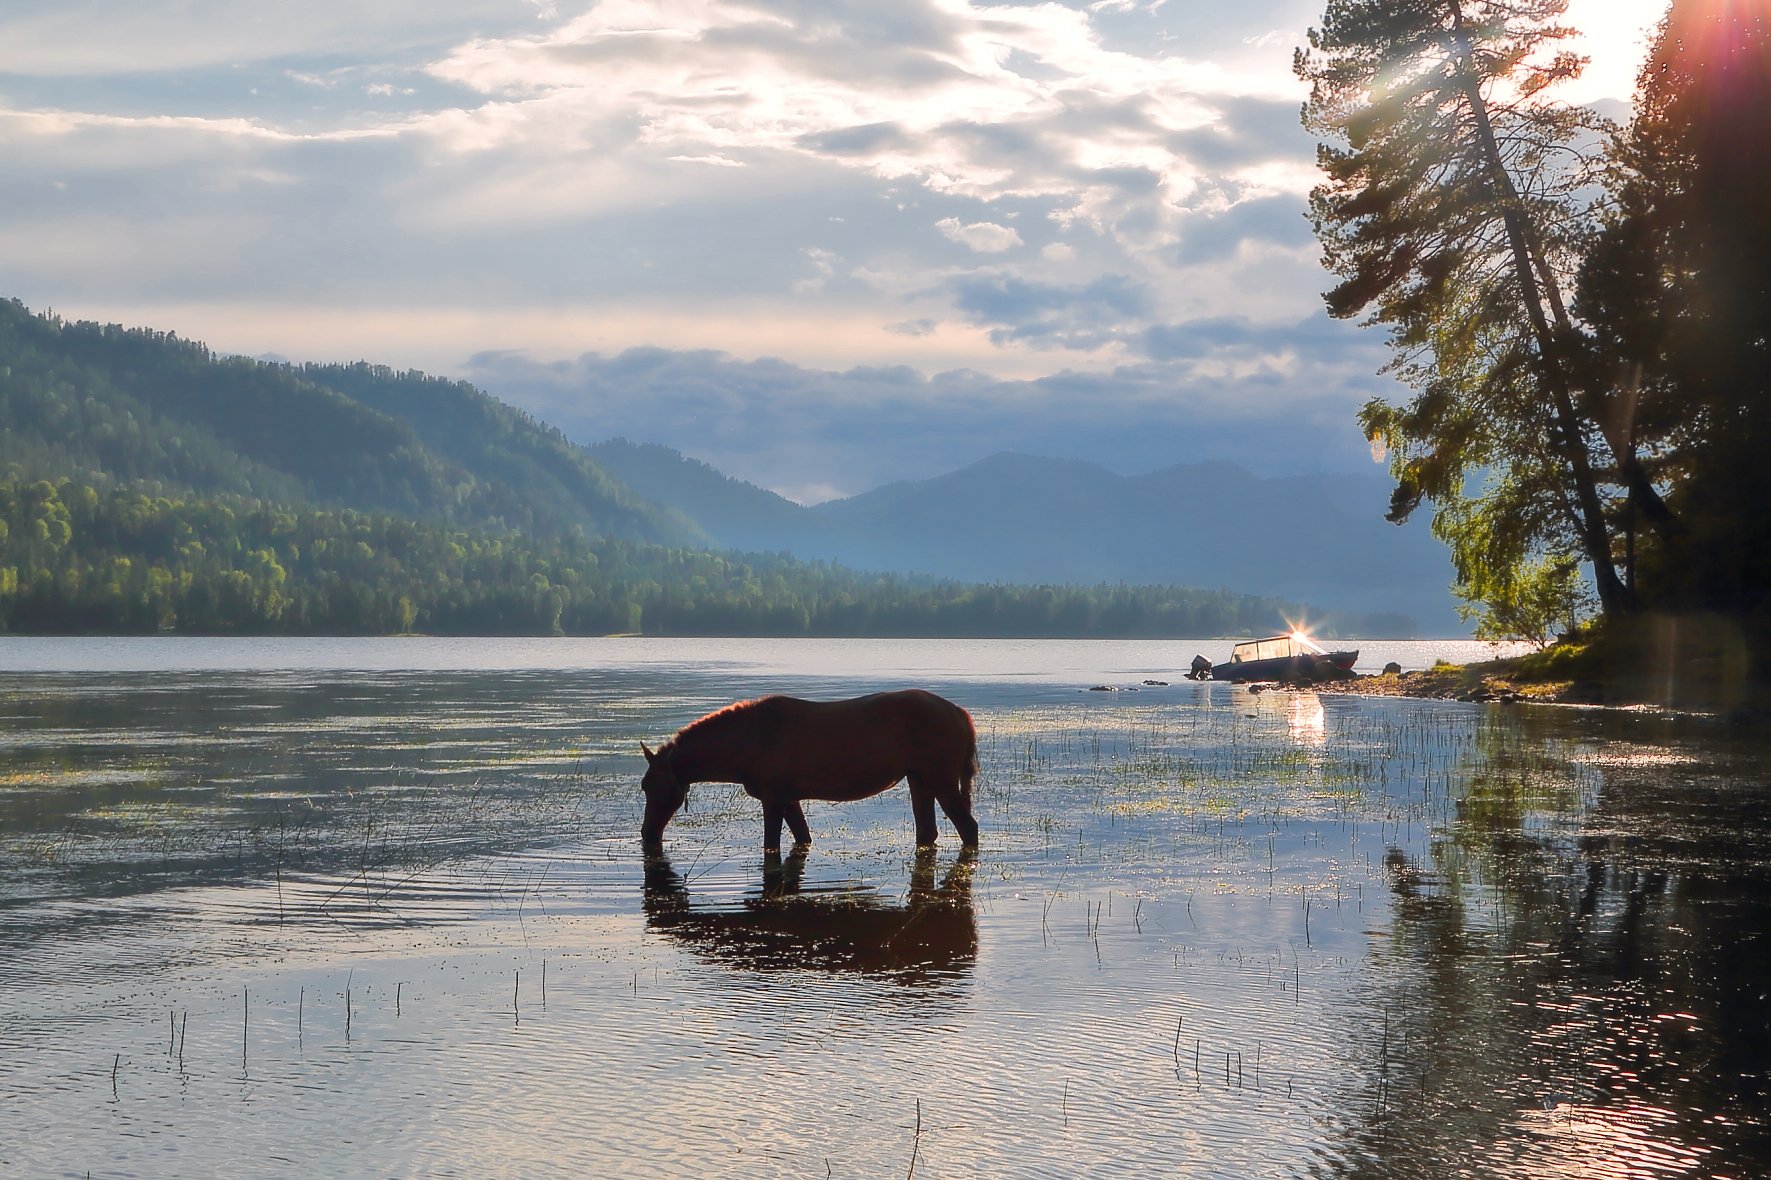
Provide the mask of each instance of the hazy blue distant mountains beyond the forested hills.
[{"label": "hazy blue distant mountains beyond the forested hills", "polygon": [[802,507],[668,446],[611,439],[590,455],[715,546],[967,581],[1227,586],[1397,611],[1422,634],[1466,633],[1445,546],[1424,523],[1383,519],[1390,484],[1376,475],[1259,478],[1206,461],[1121,477],[1093,462],[997,454]]}]

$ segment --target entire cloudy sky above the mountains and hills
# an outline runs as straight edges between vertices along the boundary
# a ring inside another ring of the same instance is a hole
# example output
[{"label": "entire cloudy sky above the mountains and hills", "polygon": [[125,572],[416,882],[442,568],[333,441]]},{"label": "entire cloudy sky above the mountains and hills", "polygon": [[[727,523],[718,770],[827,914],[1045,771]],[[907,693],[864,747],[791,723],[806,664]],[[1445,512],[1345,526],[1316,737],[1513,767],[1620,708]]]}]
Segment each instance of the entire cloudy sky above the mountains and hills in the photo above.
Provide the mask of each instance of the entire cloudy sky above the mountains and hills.
[{"label": "entire cloudy sky above the mountains and hills", "polygon": [[[1622,115],[1661,0],[1573,0]],[[0,296],[457,376],[800,501],[1373,468],[1321,0],[7,0]]]}]

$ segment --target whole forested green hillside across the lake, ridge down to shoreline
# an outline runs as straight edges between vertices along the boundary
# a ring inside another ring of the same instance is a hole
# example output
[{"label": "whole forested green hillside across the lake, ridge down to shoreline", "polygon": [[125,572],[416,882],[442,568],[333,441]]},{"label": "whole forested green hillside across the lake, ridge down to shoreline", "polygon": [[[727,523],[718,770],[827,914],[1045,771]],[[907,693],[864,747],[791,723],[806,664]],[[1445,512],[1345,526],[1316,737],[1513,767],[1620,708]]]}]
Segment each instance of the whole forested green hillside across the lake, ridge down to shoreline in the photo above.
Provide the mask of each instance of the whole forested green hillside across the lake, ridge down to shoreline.
[{"label": "whole forested green hillside across the lake, ridge down to shoreline", "polygon": [[[0,303],[0,629],[14,634],[1204,636],[1307,608],[714,553],[471,384],[216,356]],[[1314,615],[1311,615],[1314,620]],[[1399,617],[1334,634],[1411,634]]]}]

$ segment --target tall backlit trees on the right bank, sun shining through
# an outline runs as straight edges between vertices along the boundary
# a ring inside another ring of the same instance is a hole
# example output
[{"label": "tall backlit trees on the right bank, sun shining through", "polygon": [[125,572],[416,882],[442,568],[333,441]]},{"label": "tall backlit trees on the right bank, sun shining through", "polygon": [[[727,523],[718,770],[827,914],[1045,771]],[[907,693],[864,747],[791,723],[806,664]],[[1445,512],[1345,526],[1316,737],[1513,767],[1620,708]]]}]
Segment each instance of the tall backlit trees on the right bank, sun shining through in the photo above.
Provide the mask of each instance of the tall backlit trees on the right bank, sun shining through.
[{"label": "tall backlit trees on the right bank, sun shining through", "polygon": [[[1413,388],[1360,422],[1479,634],[1594,606],[1771,654],[1771,5],[1674,0],[1613,124],[1566,0],[1332,0],[1296,73],[1339,317]],[[1590,599],[1590,601],[1589,601]]]}]

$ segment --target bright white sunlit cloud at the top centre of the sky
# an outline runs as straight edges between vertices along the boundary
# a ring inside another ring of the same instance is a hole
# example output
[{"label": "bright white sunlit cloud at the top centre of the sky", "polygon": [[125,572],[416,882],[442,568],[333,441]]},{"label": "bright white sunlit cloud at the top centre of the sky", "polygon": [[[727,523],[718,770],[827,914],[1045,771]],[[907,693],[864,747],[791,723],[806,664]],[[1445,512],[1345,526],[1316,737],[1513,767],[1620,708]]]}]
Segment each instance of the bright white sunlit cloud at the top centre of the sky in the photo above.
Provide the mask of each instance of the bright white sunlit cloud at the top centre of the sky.
[{"label": "bright white sunlit cloud at the top centre of the sky", "polygon": [[[1222,73],[1109,50],[1087,12],[629,0],[459,46],[430,73],[487,99],[625,110],[677,154],[804,152],[974,198],[1185,186],[1169,140]],[[1094,197],[1094,207],[1109,202]]]}]

